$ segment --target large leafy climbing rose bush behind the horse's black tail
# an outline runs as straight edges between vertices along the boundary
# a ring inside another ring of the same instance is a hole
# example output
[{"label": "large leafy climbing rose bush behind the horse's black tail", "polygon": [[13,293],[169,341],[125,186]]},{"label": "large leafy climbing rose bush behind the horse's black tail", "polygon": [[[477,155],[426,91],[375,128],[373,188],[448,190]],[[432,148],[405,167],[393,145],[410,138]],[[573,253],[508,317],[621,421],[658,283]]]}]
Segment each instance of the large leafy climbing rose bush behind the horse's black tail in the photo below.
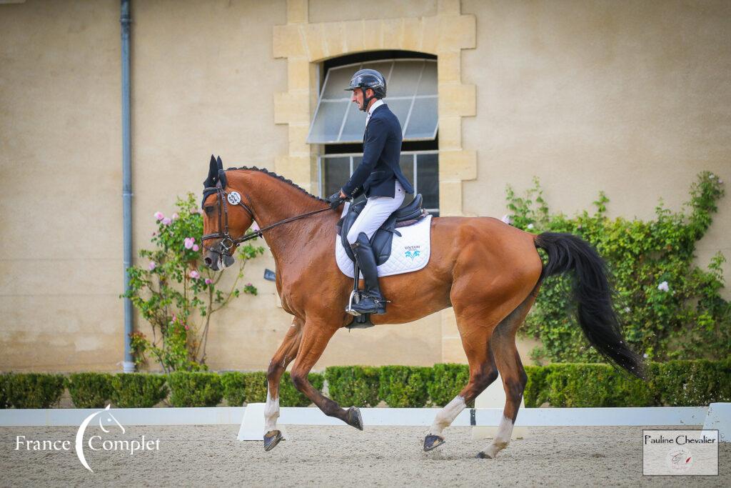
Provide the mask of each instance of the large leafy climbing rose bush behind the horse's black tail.
[{"label": "large leafy climbing rose bush behind the horse's black tail", "polygon": [[[697,175],[689,200],[678,212],[656,206],[648,221],[606,216],[609,198],[599,193],[594,214],[552,214],[539,181],[522,198],[507,187],[503,217],[531,233],[569,232],[590,242],[607,261],[616,291],[615,311],[632,349],[655,361],[724,359],[731,351],[731,304],[721,298],[724,255],[708,269],[694,263],[695,246],[710,228],[723,181],[709,171]],[[534,361],[600,361],[572,315],[572,277],[545,280],[523,334],[542,341]]]}]

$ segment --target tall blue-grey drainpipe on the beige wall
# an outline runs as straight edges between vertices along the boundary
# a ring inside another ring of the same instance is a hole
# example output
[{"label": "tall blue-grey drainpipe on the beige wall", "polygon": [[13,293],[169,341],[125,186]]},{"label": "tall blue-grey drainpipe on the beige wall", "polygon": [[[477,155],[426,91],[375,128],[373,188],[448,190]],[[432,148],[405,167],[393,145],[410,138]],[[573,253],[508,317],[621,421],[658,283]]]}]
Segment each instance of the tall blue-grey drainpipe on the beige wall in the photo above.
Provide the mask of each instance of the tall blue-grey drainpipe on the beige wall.
[{"label": "tall blue-grey drainpipe on the beige wall", "polygon": [[[127,268],[132,266],[132,162],[129,140],[129,29],[132,18],[129,17],[129,0],[121,0],[119,18],[122,30],[122,222],[124,226],[124,291],[129,290]],[[135,372],[135,361],[132,359],[129,334],[132,334],[132,301],[124,299],[124,362],[123,371]]]}]

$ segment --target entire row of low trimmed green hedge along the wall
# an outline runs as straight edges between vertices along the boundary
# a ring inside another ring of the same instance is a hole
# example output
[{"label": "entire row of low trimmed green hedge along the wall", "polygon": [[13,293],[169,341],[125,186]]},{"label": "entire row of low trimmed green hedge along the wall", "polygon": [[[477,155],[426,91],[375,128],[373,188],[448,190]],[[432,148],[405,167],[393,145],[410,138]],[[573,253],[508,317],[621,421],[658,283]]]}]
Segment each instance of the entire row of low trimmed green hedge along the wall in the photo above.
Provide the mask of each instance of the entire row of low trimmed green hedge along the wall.
[{"label": "entire row of low trimmed green hedge along the wall", "polygon": [[[700,406],[731,402],[731,358],[723,361],[668,361],[649,363],[648,381],[637,380],[607,364],[549,364],[526,366],[526,407],[643,407]],[[325,375],[310,373],[314,388],[346,407],[443,406],[469,380],[466,364],[433,367],[340,366]],[[49,408],[57,405],[64,386],[77,408],[104,408],[111,400],[119,408],[153,407],[164,400],[168,386],[173,406],[218,405],[225,397],[232,406],[265,402],[265,372],[74,373],[63,375],[18,373],[0,375],[0,408]],[[289,372],[281,378],[280,405],[304,407],[310,400],[295,388]]]}]

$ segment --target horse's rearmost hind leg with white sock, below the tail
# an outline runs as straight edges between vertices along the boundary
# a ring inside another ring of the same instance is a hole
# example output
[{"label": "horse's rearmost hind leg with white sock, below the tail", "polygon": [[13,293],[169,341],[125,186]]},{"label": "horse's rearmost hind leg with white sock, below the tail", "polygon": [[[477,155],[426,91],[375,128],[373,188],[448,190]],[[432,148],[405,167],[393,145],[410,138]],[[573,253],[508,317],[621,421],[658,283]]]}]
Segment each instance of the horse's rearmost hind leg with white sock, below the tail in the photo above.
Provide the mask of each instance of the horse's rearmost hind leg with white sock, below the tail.
[{"label": "horse's rearmost hind leg with white sock, below the tail", "polygon": [[510,443],[512,427],[515,424],[515,418],[518,416],[520,400],[523,398],[523,390],[525,390],[528,381],[526,370],[523,369],[523,363],[520,361],[520,356],[518,356],[518,348],[515,347],[515,333],[533,306],[537,288],[518,308],[510,312],[510,315],[498,324],[491,337],[491,348],[503,380],[506,400],[498,432],[490,445],[477,454],[477,457],[494,458],[499,451],[506,448]]}]

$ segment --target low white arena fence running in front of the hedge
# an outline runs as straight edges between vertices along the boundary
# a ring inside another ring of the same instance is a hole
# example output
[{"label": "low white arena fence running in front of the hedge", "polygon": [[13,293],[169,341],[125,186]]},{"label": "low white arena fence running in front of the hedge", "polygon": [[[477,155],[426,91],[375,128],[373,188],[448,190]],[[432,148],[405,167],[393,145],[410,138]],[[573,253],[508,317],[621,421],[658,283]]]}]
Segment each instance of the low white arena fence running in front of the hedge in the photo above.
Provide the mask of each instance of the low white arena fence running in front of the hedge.
[{"label": "low white arena fence running in front of the hedge", "polygon": [[[0,410],[0,427],[77,427],[100,409],[48,408]],[[262,440],[264,404],[246,407],[204,408],[113,408],[122,425],[240,425],[239,440]],[[366,427],[428,427],[438,408],[361,408]],[[496,427],[501,408],[470,408],[460,413],[452,426]],[[283,407],[279,425],[344,426],[314,407]],[[731,403],[710,407],[630,408],[521,408],[516,427],[618,427],[703,426],[719,429],[721,441],[731,441]]]}]

